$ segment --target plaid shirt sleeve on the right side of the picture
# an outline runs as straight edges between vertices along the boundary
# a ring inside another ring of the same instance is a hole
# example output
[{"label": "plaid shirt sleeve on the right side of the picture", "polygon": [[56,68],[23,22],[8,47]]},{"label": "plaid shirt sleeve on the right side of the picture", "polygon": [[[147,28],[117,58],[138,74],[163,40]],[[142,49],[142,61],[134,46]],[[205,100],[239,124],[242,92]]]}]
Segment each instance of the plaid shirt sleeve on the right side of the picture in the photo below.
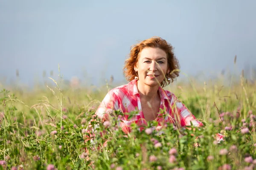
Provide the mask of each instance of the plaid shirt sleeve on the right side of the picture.
[{"label": "plaid shirt sleeve on the right side of the picture", "polygon": [[186,106],[180,102],[177,97],[173,94],[174,102],[172,107],[174,108],[174,111],[177,113],[178,121],[180,122],[180,125],[183,126],[191,126],[191,123],[193,126],[203,126],[203,123],[196,120],[195,116],[189,111]]}]

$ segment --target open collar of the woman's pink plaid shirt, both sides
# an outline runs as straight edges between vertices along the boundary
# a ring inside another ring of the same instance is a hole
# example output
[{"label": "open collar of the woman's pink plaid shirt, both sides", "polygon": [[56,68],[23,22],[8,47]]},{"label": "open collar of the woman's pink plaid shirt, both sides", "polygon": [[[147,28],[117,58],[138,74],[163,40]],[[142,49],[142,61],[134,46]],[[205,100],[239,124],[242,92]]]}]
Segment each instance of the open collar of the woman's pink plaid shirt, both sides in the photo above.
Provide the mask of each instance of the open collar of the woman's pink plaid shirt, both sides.
[{"label": "open collar of the woman's pink plaid shirt, both sides", "polygon": [[[128,83],[128,91],[130,95],[136,95],[139,94],[138,88],[137,88],[137,80],[134,79],[131,82]],[[169,99],[171,100],[170,96],[171,93],[166,93],[166,91],[159,86],[158,88],[160,98],[161,99]]]}]

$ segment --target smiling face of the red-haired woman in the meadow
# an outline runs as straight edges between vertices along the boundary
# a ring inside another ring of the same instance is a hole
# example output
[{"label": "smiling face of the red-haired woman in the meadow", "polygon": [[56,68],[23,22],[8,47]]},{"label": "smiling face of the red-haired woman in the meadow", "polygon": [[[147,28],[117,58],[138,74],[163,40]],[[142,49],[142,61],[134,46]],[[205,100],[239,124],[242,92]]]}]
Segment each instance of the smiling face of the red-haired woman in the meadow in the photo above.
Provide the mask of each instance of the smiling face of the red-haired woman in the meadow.
[{"label": "smiling face of the red-haired woman in the meadow", "polygon": [[166,52],[160,48],[143,48],[134,70],[138,72],[140,83],[149,86],[160,85],[166,73],[169,73]]}]

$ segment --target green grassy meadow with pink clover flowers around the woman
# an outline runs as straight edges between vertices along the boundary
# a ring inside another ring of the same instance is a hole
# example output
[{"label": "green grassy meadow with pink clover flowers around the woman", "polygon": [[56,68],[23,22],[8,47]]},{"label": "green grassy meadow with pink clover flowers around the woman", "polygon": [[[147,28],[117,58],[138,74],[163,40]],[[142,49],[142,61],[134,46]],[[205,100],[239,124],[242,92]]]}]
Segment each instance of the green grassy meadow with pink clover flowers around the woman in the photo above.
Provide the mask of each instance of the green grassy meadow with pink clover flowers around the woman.
[{"label": "green grassy meadow with pink clover flowers around the woman", "polygon": [[[256,80],[243,75],[188,79],[165,89],[203,127],[156,127],[152,121],[142,132],[132,125],[128,134],[116,119],[102,123],[94,115],[117,86],[113,83],[70,87],[49,79],[52,83],[33,90],[1,86],[0,170],[256,169]],[[94,136],[87,127],[96,131]]]}]

